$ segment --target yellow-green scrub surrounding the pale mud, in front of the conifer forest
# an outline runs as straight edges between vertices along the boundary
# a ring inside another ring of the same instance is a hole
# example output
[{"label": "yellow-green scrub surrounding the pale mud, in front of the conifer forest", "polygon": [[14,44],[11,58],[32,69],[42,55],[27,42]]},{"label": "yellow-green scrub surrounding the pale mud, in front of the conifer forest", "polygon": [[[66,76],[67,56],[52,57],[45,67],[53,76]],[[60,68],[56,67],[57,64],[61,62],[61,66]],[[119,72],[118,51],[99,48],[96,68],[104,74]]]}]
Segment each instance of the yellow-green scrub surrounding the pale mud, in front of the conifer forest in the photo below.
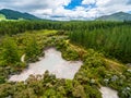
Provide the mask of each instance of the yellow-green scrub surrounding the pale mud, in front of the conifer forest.
[{"label": "yellow-green scrub surrounding the pale mud, in front of the conifer forest", "polygon": [[[10,74],[20,73],[27,62],[44,56],[43,50],[48,47],[56,47],[66,60],[83,61],[74,79],[56,78],[46,71],[41,79],[31,75],[26,84],[7,82]],[[4,36],[0,49],[0,98],[102,98],[102,85],[117,89],[120,98],[131,97],[131,70],[93,49],[72,44],[67,32],[41,29]]]}]

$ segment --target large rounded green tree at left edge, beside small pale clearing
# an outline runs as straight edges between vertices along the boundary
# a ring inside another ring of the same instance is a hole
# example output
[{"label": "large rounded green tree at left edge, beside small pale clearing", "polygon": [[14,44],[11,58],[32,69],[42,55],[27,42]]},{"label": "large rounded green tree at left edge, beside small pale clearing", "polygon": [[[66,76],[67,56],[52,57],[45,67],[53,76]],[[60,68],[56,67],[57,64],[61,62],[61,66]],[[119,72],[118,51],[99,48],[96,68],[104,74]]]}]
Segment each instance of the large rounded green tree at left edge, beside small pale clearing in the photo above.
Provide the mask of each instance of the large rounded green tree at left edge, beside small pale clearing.
[{"label": "large rounded green tree at left edge, beside small pale clearing", "polygon": [[2,65],[12,65],[20,62],[17,46],[12,38],[5,37],[3,39],[1,56],[1,59],[3,60],[1,63]]}]

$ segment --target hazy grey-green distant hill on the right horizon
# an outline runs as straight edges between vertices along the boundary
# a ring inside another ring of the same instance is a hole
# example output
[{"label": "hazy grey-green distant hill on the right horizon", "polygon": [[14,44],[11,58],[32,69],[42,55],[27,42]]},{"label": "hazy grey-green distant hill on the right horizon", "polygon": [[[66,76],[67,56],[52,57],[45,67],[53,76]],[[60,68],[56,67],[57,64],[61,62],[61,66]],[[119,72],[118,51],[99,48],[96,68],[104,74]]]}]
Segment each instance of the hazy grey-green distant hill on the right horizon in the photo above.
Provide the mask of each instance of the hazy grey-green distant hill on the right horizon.
[{"label": "hazy grey-green distant hill on the right horizon", "polygon": [[131,14],[124,12],[118,12],[110,15],[104,15],[98,19],[98,21],[131,21]]}]

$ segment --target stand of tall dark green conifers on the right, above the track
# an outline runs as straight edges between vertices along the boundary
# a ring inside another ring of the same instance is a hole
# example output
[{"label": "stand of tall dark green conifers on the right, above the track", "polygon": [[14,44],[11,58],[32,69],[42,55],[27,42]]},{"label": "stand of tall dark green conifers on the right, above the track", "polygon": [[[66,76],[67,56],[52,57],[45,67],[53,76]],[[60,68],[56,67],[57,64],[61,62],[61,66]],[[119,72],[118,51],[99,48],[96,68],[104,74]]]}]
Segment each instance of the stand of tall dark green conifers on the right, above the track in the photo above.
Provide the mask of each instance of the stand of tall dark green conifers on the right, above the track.
[{"label": "stand of tall dark green conifers on the right, above the track", "polygon": [[[131,27],[127,24],[108,26],[70,33],[70,39],[86,48],[99,50],[108,57],[115,57],[122,62],[131,62]],[[100,23],[99,23],[100,26]]]}]

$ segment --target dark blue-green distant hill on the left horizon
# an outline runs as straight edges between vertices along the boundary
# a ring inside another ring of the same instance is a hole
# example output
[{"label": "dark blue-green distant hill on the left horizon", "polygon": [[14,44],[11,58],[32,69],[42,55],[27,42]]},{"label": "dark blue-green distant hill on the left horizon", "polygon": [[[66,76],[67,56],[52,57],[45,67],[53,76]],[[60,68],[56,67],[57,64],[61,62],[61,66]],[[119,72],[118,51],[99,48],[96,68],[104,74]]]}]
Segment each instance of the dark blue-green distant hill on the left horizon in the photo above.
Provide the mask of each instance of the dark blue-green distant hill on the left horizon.
[{"label": "dark blue-green distant hill on the left horizon", "polygon": [[0,14],[4,15],[7,20],[19,20],[19,19],[24,19],[24,20],[40,20],[37,16],[34,16],[28,13],[22,13],[19,11],[13,11],[9,9],[2,9],[0,10]]}]

